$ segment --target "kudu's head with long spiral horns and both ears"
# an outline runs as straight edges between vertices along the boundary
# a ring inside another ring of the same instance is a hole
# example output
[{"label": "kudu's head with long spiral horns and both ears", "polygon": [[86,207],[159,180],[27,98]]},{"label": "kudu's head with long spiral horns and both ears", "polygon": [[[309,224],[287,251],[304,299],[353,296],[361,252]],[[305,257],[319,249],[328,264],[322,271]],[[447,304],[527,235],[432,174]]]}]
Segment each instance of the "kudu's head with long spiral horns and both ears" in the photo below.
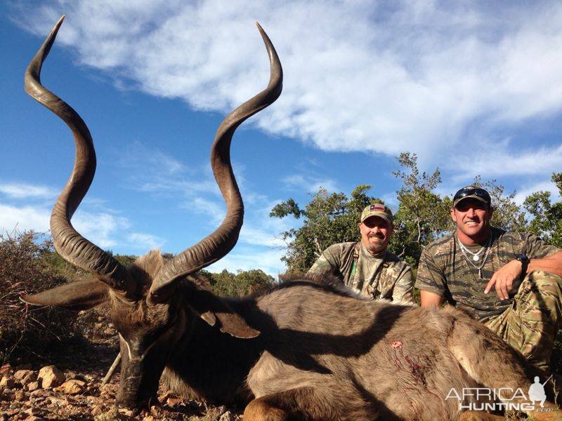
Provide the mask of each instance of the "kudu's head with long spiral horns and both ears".
[{"label": "kudu's head with long spiral horns and both ears", "polygon": [[[119,331],[122,373],[117,403],[143,405],[156,392],[159,377],[185,328],[186,319],[201,317],[211,326],[238,338],[254,338],[254,330],[228,304],[203,288],[190,276],[226,255],[242,227],[244,205],[230,164],[230,141],[237,126],[268,107],[280,95],[282,69],[275,48],[258,25],[270,60],[270,81],[261,93],[228,114],[218,127],[211,149],[211,166],[226,202],[227,213],[220,227],[199,243],[164,260],[152,251],[129,267],[85,239],[70,219],[88,191],[96,171],[96,153],[86,123],[77,112],[41,85],[40,72],[55,36],[60,18],[25,72],[25,91],[65,121],[74,135],[76,156],[72,174],[58,197],[51,215],[51,234],[58,253],[68,262],[92,274],[92,279],[58,286],[22,297],[32,305],[55,305],[89,309],[109,302],[112,321]],[[177,293],[181,284],[181,293]]]}]

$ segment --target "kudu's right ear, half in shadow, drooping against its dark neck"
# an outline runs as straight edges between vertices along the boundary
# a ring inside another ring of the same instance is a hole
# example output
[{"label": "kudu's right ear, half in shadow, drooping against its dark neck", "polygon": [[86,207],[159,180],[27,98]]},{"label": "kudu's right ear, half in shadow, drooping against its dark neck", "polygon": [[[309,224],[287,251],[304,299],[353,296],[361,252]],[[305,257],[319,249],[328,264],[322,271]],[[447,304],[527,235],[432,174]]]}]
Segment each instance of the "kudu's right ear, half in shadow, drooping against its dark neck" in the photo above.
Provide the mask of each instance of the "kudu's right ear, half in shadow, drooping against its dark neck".
[{"label": "kudu's right ear, half in shadow, drooping against its dark neck", "polygon": [[215,326],[218,321],[221,332],[235,338],[256,338],[260,334],[259,330],[251,328],[242,316],[236,314],[226,301],[211,291],[198,288],[192,283],[189,289],[189,306],[209,325]]}]

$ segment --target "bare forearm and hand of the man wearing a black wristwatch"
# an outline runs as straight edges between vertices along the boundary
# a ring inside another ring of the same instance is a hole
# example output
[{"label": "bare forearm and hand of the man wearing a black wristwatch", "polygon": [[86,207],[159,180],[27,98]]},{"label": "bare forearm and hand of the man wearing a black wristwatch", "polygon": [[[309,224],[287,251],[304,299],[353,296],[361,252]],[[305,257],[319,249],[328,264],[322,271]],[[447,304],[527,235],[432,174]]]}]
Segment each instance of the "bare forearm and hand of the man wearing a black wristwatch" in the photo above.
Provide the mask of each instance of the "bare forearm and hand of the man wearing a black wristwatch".
[{"label": "bare forearm and hand of the man wearing a black wristwatch", "polygon": [[[507,300],[509,298],[509,291],[513,289],[514,281],[521,276],[522,270],[523,264],[518,260],[507,262],[492,275],[484,293],[488,294],[495,287],[497,296],[502,300]],[[562,251],[557,251],[542,259],[531,258],[525,275],[534,270],[544,270],[544,272],[562,277]]]}]

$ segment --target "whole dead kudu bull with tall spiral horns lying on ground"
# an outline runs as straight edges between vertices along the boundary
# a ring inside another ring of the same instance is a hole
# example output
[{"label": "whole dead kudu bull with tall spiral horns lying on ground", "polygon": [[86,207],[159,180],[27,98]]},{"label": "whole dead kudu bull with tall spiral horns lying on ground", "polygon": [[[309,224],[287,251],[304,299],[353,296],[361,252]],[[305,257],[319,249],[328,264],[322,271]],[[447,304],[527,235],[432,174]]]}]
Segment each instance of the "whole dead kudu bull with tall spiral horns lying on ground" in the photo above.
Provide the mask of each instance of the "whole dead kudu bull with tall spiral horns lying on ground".
[{"label": "whole dead kudu bull with tall spiral horns lying on ground", "polygon": [[[242,227],[242,198],[230,165],[235,128],[281,93],[281,65],[261,28],[269,85],[226,117],[211,151],[227,205],[222,225],[170,260],[152,251],[129,267],[85,239],[70,218],[93,180],[92,138],[78,114],[39,81],[62,20],[30,63],[25,89],[74,133],[74,168],[53,208],[51,232],[60,255],[93,279],[22,299],[75,310],[110,303],[121,338],[119,406],[145,405],[162,380],[182,396],[247,403],[246,421],[477,419],[486,414],[461,413],[457,399],[445,399],[452,388],[458,394],[464,387],[521,388],[526,394],[535,375],[544,380],[521,354],[455,309],[372,302],[318,279],[218,298],[192,275],[226,255]],[[519,401],[528,403],[511,402]]]}]

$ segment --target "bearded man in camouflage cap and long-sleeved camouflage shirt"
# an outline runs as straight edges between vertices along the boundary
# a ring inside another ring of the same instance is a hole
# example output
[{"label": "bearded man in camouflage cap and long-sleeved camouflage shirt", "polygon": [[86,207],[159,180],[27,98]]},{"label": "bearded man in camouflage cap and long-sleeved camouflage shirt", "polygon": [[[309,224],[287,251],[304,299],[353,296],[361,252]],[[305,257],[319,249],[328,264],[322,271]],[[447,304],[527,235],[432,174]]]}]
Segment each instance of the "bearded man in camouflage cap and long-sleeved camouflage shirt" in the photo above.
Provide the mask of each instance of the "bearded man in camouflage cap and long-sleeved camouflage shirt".
[{"label": "bearded man in camouflage cap and long-sleeved camouflage shirt", "polygon": [[361,213],[361,241],[329,246],[308,270],[331,274],[365,297],[414,303],[412,269],[386,247],[393,232],[388,206],[374,203]]}]

